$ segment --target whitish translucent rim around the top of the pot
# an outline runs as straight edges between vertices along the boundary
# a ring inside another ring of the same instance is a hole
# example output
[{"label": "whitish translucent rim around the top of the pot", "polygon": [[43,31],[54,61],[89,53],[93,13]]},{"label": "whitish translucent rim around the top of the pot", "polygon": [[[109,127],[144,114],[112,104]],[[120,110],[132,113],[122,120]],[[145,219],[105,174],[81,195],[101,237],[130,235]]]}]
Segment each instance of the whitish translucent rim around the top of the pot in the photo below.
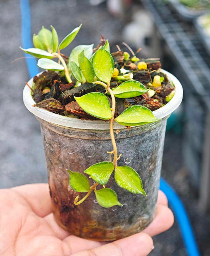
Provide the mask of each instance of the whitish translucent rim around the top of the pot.
[{"label": "whitish translucent rim around the top of the pot", "polygon": [[[159,69],[161,72],[165,73],[169,80],[173,82],[175,85],[175,94],[171,101],[167,103],[164,107],[159,108],[157,110],[154,110],[152,113],[156,118],[164,118],[166,116],[169,116],[173,111],[175,111],[180,103],[182,102],[182,97],[183,97],[183,89],[182,85],[180,84],[179,80],[169,73],[168,71],[165,71],[164,69]],[[41,73],[39,73],[41,74]],[[39,75],[38,74],[38,75]],[[32,86],[33,78],[31,78],[28,81],[28,84]],[[31,95],[31,90],[30,88],[26,85],[23,90],[23,101],[24,105],[32,114],[37,116],[38,118],[41,118],[45,121],[48,121],[50,123],[54,123],[56,125],[61,125],[65,127],[71,127],[71,128],[76,128],[76,129],[88,129],[88,130],[109,130],[110,125],[106,121],[100,121],[100,120],[81,120],[78,118],[70,118],[67,116],[60,116],[58,114],[52,113],[48,110],[45,110],[43,108],[39,107],[33,107],[35,104],[35,101],[32,98]],[[125,126],[120,125],[117,122],[113,123],[113,129],[125,129]]]}]

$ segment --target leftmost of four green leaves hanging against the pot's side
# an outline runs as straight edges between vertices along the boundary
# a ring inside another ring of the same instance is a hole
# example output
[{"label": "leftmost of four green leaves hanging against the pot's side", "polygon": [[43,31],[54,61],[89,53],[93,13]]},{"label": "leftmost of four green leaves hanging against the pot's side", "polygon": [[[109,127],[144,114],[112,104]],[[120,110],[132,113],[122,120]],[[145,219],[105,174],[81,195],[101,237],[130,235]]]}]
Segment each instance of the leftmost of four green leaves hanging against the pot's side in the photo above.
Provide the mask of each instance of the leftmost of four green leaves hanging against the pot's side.
[{"label": "leftmost of four green leaves hanging against the pot's side", "polygon": [[69,172],[69,185],[76,192],[88,192],[90,190],[89,181],[86,176],[79,172]]}]

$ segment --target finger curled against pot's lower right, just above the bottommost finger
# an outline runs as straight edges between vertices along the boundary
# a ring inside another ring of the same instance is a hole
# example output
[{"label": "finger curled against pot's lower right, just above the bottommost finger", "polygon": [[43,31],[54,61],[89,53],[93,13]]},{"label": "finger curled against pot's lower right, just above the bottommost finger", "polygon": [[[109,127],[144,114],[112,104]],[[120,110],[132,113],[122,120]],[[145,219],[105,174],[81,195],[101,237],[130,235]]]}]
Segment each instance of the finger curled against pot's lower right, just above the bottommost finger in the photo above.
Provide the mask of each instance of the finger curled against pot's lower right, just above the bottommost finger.
[{"label": "finger curled against pot's lower right, just above the bottommost finger", "polygon": [[158,235],[171,228],[173,222],[174,217],[172,211],[166,206],[159,205],[157,206],[154,220],[143,232],[151,236]]}]

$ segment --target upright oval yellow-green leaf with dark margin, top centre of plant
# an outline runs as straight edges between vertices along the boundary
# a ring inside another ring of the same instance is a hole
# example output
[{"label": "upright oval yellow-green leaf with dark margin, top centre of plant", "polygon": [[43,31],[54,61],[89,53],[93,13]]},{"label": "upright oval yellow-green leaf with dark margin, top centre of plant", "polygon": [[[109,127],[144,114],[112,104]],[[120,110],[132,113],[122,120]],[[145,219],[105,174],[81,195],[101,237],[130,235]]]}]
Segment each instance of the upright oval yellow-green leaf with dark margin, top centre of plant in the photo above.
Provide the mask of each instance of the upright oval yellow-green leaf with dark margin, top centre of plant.
[{"label": "upright oval yellow-green leaf with dark margin, top centre of plant", "polygon": [[106,83],[110,82],[114,70],[114,60],[107,50],[99,48],[95,52],[92,59],[92,66],[95,76],[99,80]]}]

